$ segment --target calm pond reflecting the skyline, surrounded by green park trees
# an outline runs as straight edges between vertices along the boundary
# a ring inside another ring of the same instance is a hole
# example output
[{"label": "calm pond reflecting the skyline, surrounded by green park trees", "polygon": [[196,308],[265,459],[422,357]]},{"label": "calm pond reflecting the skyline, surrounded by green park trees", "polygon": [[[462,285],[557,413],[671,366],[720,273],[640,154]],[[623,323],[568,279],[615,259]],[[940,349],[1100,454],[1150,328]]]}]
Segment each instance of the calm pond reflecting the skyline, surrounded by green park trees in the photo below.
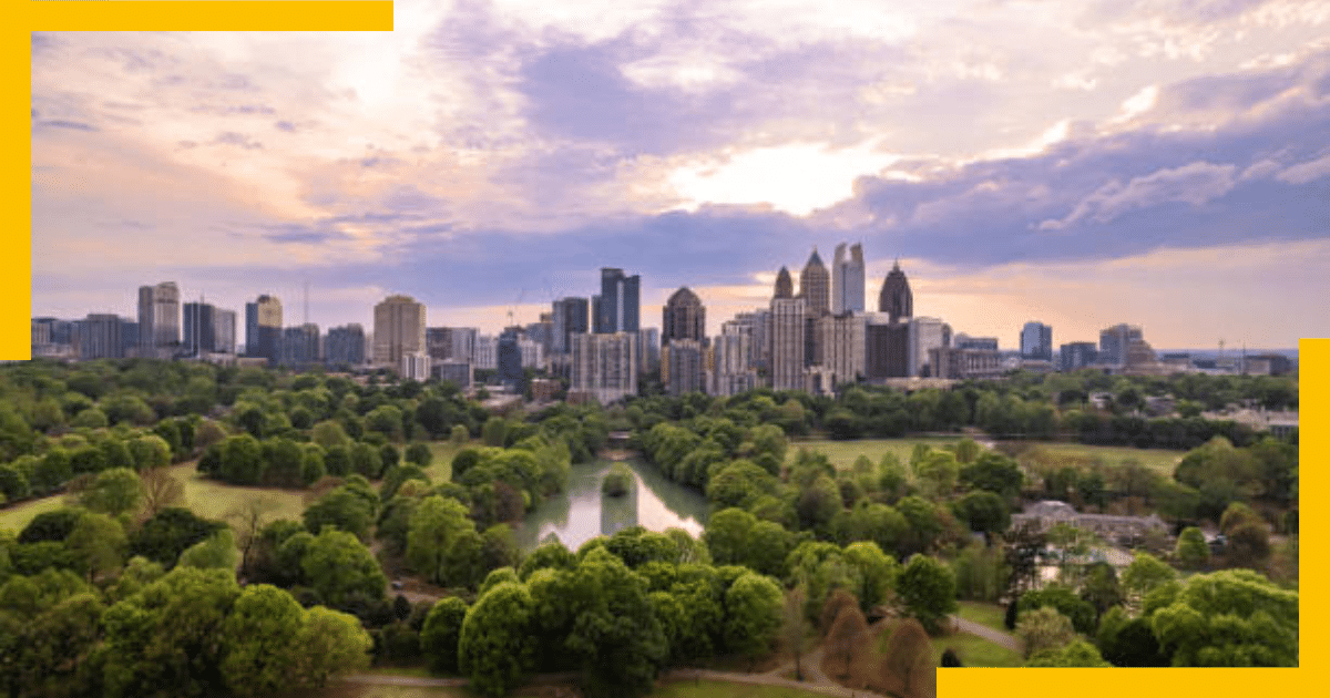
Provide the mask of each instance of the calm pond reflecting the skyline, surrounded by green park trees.
[{"label": "calm pond reflecting the skyline, surrounded by green park trees", "polygon": [[569,550],[577,550],[596,536],[610,536],[637,525],[649,530],[681,528],[694,537],[702,534],[706,497],[638,460],[622,463],[633,471],[633,488],[622,497],[606,497],[600,492],[600,481],[609,472],[608,460],[575,464],[564,492],[540,503],[513,528],[517,545],[532,550],[548,536],[555,536]]}]

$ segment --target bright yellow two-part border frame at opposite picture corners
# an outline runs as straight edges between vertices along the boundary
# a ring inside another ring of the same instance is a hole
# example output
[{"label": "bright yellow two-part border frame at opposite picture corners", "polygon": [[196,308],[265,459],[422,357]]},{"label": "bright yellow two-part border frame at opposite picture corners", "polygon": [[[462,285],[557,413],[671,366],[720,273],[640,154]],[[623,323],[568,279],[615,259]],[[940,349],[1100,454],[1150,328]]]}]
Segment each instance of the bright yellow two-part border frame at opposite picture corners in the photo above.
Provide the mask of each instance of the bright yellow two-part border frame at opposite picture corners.
[{"label": "bright yellow two-part border frame at opposite picture corners", "polygon": [[[4,32],[0,45],[4,47],[9,89],[7,126],[9,133],[19,133],[19,116],[24,105],[17,104],[20,94],[17,82],[23,74],[20,65],[31,65],[32,31],[391,31],[391,1],[117,1],[117,3],[11,3],[19,5],[24,29]],[[25,92],[31,100],[29,89]],[[32,140],[24,138],[13,144],[15,158],[21,154],[32,160]],[[9,186],[7,191],[23,191],[17,177],[17,165],[11,164]],[[31,174],[29,183],[31,187]],[[0,292],[8,299],[0,304],[0,358],[27,359],[31,351],[29,332],[24,332],[24,320],[31,319],[32,310],[32,197],[12,194],[4,255],[4,278],[0,279]],[[1302,388],[1302,461],[1323,460],[1330,451],[1330,408],[1326,404],[1326,391],[1330,388],[1330,339],[1303,339],[1299,343],[1301,388]],[[1310,457],[1309,457],[1310,456]],[[1301,489],[1311,497],[1310,507],[1302,515],[1302,528],[1325,530],[1325,509],[1315,504],[1321,500],[1323,479],[1319,467],[1307,471],[1310,485]],[[1309,554],[1302,561],[1301,588],[1314,588],[1325,580],[1325,562],[1321,552],[1325,544],[1313,537]],[[1309,585],[1307,582],[1313,582]],[[1302,605],[1301,628],[1311,629],[1302,633],[1298,669],[1117,669],[1111,673],[1095,673],[1095,669],[1045,669],[1037,677],[1016,674],[1004,669],[942,670],[938,674],[938,691],[942,695],[1011,695],[1029,698],[1031,695],[1077,695],[1084,698],[1121,698],[1125,695],[1150,695],[1172,698],[1176,695],[1261,695],[1270,691],[1291,690],[1310,693],[1314,686],[1330,685],[1323,677],[1321,661],[1325,661],[1326,640],[1318,622],[1325,618],[1325,600],[1310,597]],[[1321,679],[1315,677],[1322,675]]]}]

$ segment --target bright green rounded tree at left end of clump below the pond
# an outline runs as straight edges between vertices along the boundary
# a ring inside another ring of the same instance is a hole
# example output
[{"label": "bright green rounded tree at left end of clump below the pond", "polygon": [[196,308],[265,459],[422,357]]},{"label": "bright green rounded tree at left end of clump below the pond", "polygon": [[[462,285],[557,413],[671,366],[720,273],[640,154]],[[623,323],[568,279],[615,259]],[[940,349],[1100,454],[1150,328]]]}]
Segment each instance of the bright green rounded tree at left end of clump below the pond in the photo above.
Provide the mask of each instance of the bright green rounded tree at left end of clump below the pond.
[{"label": "bright green rounded tree at left end of clump below the pond", "polygon": [[529,670],[532,600],[524,585],[507,582],[480,597],[462,622],[458,665],[471,686],[503,695]]}]

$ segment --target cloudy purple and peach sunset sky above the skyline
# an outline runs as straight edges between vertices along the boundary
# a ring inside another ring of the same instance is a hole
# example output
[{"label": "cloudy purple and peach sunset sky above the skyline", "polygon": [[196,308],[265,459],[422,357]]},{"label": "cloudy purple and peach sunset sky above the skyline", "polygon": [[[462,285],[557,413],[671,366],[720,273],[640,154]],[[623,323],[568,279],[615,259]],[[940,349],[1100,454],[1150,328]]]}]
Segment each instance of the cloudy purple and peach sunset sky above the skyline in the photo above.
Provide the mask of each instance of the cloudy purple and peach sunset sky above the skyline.
[{"label": "cloudy purple and peach sunset sky above the skyline", "polygon": [[396,0],[395,27],[33,33],[33,315],[174,281],[496,331],[609,266],[644,326],[688,286],[714,334],[859,242],[870,310],[899,261],[916,316],[1004,348],[1031,320],[1330,336],[1330,0]]}]

